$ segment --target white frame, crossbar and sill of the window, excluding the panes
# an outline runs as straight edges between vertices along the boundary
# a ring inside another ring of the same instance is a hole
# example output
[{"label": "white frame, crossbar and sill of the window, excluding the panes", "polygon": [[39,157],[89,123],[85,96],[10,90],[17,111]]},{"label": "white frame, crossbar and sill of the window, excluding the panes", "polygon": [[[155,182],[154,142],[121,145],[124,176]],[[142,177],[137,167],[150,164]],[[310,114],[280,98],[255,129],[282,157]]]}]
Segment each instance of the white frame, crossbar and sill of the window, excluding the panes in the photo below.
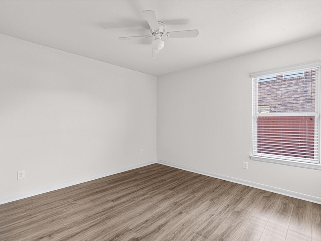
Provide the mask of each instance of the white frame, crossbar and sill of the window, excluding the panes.
[{"label": "white frame, crossbar and sill of the window, excluding the panes", "polygon": [[[320,106],[320,94],[321,94],[321,80],[320,80],[320,66],[321,66],[321,61],[316,61],[316,62],[311,62],[311,63],[307,63],[307,64],[302,64],[302,65],[295,65],[295,66],[291,66],[291,67],[287,67],[287,68],[282,68],[282,69],[273,69],[273,70],[268,70],[268,71],[260,71],[260,72],[255,72],[255,73],[251,73],[250,77],[256,81],[256,83],[259,82],[260,78],[262,76],[276,76],[279,74],[283,74],[283,73],[289,73],[289,72],[299,72],[302,71],[304,69],[309,69],[309,68],[318,68],[318,76],[316,76],[316,87],[315,87],[315,108],[316,109],[316,113],[310,112],[284,112],[284,116],[299,116],[299,115],[314,115],[314,121],[318,122],[319,121],[319,113],[321,110],[321,106]],[[255,96],[257,95],[257,84],[254,86],[253,85],[253,93],[252,95]],[[254,101],[254,98],[253,98]],[[257,101],[257,98],[255,98],[255,101]],[[256,118],[257,116],[272,116],[274,115],[273,113],[268,113],[268,112],[262,112],[262,113],[257,113],[257,102],[256,103],[252,103],[253,104],[253,115],[252,115],[252,139],[253,139],[253,143],[255,142],[255,138],[257,140],[257,122],[256,122]],[[275,116],[280,116],[280,113],[275,113]],[[320,124],[317,125],[317,128],[315,128],[315,133],[318,134],[318,139],[321,140],[321,133],[320,133]],[[318,142],[319,140],[316,140],[316,142]],[[321,145],[319,145],[319,147],[321,147]],[[319,151],[318,151],[319,152]],[[284,157],[280,158],[280,156],[278,155],[270,155],[270,154],[265,154],[265,153],[257,153],[257,151],[255,150],[255,145],[253,145],[253,154],[250,155],[251,160],[254,161],[261,161],[261,162],[269,162],[269,163],[276,163],[276,164],[282,164],[282,165],[289,165],[289,166],[295,166],[295,167],[303,167],[303,168],[310,168],[310,169],[317,169],[317,170],[321,170],[321,164],[320,164],[320,153],[317,153],[318,156],[318,160],[314,160],[314,161],[310,161],[310,162],[306,162],[306,161],[299,161],[299,158],[291,158],[291,157],[287,157],[286,159]]]}]

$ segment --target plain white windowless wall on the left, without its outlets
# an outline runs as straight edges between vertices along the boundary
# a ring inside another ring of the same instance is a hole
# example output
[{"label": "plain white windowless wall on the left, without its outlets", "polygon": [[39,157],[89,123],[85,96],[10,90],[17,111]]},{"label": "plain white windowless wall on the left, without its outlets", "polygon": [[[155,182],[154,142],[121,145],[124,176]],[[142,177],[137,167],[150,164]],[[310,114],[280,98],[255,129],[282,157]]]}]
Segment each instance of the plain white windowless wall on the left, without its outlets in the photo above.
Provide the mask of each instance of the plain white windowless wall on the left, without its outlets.
[{"label": "plain white windowless wall on the left, without its outlets", "polygon": [[0,200],[155,160],[156,77],[0,35]]}]

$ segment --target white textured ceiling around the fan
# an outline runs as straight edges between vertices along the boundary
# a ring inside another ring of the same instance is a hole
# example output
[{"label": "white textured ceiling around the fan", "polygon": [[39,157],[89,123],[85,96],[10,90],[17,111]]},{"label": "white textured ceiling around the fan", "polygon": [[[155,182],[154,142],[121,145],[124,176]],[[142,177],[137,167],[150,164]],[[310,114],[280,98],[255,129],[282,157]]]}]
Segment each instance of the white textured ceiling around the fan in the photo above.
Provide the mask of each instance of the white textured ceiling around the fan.
[{"label": "white textured ceiling around the fan", "polygon": [[[163,38],[152,59],[142,11],[167,31],[198,29],[197,38]],[[0,33],[151,74],[177,70],[321,35],[321,1],[0,1]],[[320,43],[321,44],[321,43]]]}]

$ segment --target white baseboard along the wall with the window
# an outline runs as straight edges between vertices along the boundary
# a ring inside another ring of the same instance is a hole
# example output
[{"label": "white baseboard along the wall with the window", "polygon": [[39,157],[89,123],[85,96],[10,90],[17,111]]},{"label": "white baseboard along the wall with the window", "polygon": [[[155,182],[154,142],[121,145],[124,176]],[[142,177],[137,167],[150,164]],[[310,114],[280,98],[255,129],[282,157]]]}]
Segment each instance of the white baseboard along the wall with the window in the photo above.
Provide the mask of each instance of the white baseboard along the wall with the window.
[{"label": "white baseboard along the wall with the window", "polygon": [[170,166],[170,167],[179,168],[179,169],[189,171],[189,172],[194,172],[194,173],[206,175],[209,177],[222,179],[222,180],[229,181],[229,182],[242,184],[242,185],[249,186],[249,187],[262,189],[262,190],[269,191],[269,192],[282,194],[282,195],[289,196],[289,197],[294,197],[297,199],[302,199],[302,200],[309,201],[309,202],[314,202],[317,204],[321,204],[321,198],[319,198],[319,197],[314,197],[314,196],[310,196],[310,195],[306,195],[306,194],[302,194],[302,193],[298,193],[298,192],[293,192],[293,191],[289,191],[289,190],[285,190],[285,189],[281,189],[281,188],[277,188],[277,187],[272,187],[272,186],[268,186],[268,185],[264,185],[264,184],[260,184],[260,183],[250,182],[250,181],[246,181],[246,180],[242,180],[242,179],[238,179],[238,178],[234,178],[234,177],[228,177],[228,176],[224,176],[224,175],[220,175],[220,174],[202,171],[202,170],[198,170],[195,168],[186,167],[186,166],[182,166],[179,164],[166,162],[166,161],[162,161],[162,160],[157,160],[156,163],[163,164],[163,165]]}]

